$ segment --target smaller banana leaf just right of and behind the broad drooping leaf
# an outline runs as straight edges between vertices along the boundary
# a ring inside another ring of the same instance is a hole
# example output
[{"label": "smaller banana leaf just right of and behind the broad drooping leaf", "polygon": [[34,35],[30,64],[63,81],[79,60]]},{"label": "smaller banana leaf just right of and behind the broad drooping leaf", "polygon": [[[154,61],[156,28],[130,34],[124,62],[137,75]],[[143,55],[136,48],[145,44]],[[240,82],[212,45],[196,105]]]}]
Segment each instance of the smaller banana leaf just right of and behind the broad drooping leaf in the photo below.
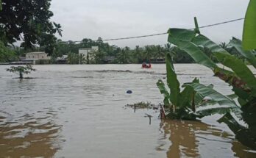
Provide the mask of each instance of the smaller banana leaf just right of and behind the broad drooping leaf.
[{"label": "smaller banana leaf just right of and behind the broad drooping leaf", "polygon": [[205,48],[210,49],[210,51],[212,51],[213,53],[222,52],[228,54],[225,49],[222,49],[221,46],[214,43],[212,40],[205,37],[204,35],[198,35],[194,37],[192,42],[195,43],[197,46],[204,46]]}]

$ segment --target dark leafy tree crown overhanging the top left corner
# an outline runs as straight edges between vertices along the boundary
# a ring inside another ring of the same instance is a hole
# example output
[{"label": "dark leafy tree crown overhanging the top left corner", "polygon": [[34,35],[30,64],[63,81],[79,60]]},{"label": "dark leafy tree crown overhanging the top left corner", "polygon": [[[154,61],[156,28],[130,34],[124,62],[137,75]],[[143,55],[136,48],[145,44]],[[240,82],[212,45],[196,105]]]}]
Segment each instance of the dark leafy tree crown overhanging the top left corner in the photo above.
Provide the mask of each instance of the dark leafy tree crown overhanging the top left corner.
[{"label": "dark leafy tree crown overhanging the top left corner", "polygon": [[60,24],[50,21],[51,0],[2,0],[0,11],[0,40],[5,46],[22,40],[24,49],[35,45],[52,54],[57,38],[61,35]]}]

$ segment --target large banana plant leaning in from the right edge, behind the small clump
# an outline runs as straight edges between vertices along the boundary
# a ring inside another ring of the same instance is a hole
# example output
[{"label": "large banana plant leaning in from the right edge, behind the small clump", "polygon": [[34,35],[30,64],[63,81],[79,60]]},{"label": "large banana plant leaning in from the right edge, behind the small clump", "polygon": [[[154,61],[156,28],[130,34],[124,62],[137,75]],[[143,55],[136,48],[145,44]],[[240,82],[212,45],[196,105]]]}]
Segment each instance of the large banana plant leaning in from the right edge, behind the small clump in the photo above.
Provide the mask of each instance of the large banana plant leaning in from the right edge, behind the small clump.
[{"label": "large banana plant leaning in from the right edge, behind the small clump", "polygon": [[[250,4],[254,4],[250,2]],[[251,10],[251,12],[253,12]],[[247,12],[248,13],[248,12]],[[236,134],[238,140],[241,143],[244,143],[246,146],[256,149],[256,78],[252,73],[251,69],[243,62],[243,60],[238,59],[238,57],[232,56],[225,49],[222,49],[216,43],[214,43],[209,38],[202,35],[199,31],[199,26],[195,18],[196,29],[169,29],[168,30],[168,41],[179,49],[186,51],[195,62],[205,65],[207,68],[210,68],[214,76],[217,76],[219,79],[224,80],[232,86],[232,90],[235,95],[238,96],[238,105],[237,107],[230,107],[230,112],[234,112],[238,118],[242,118],[247,126],[240,125],[235,118],[226,112],[223,118],[219,122],[226,123],[230,129]],[[255,27],[256,28],[256,27]],[[255,31],[255,28],[253,29]],[[252,29],[252,28],[251,28]],[[252,31],[252,30],[251,30]],[[252,43],[250,40],[249,43]],[[254,66],[256,66],[256,57],[255,51],[246,51],[243,49],[241,40],[233,38],[230,43],[230,46],[235,48],[238,53],[240,53],[246,60]],[[227,68],[230,68],[231,71],[220,68],[212,60],[210,60],[207,55],[201,51],[200,48],[207,48],[211,51],[214,57]],[[199,83],[187,84],[187,86],[192,87],[196,93],[202,93],[203,85],[198,85]],[[206,94],[210,96],[211,94]],[[219,98],[220,96],[216,96]],[[221,104],[229,105],[226,101],[221,101]],[[221,107],[219,108],[221,109]],[[218,110],[215,110],[217,112]],[[209,110],[207,112],[210,112]],[[207,115],[207,112],[202,112],[201,115]],[[213,111],[212,111],[213,112]],[[213,112],[214,113],[214,112]],[[218,113],[225,113],[225,110],[219,110]],[[248,142],[248,143],[246,143]]]}]

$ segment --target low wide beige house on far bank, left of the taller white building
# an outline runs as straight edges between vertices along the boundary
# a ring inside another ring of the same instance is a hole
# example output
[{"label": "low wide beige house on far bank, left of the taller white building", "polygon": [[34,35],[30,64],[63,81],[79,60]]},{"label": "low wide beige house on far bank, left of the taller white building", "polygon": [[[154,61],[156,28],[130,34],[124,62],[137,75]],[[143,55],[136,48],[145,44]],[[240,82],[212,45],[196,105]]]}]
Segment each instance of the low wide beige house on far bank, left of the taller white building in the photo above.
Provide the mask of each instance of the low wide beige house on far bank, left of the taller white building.
[{"label": "low wide beige house on far bank, left of the taller white building", "polygon": [[32,64],[49,64],[51,57],[43,51],[26,53],[24,62],[31,62]]}]

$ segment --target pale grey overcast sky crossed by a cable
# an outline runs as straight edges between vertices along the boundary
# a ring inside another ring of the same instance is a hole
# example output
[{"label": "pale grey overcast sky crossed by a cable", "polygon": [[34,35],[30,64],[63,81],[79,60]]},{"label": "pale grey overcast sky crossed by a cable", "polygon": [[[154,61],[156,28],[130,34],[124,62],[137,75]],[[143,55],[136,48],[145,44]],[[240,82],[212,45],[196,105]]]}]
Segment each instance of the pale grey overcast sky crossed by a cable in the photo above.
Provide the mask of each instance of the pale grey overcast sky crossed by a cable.
[{"label": "pale grey overcast sky crossed by a cable", "polygon": [[[243,18],[249,0],[52,0],[53,21],[63,29],[62,40],[96,40],[149,35],[170,27],[193,28]],[[216,43],[241,38],[243,21],[201,29]],[[117,46],[167,43],[167,35],[109,42]]]}]

